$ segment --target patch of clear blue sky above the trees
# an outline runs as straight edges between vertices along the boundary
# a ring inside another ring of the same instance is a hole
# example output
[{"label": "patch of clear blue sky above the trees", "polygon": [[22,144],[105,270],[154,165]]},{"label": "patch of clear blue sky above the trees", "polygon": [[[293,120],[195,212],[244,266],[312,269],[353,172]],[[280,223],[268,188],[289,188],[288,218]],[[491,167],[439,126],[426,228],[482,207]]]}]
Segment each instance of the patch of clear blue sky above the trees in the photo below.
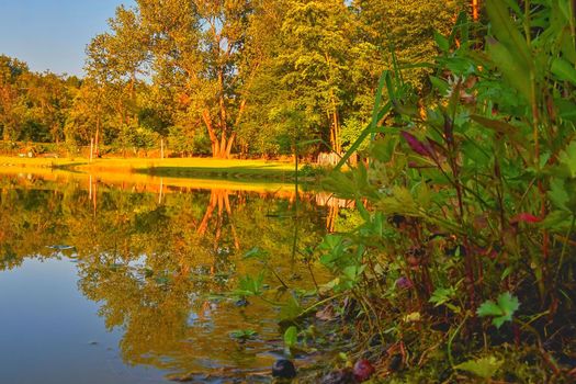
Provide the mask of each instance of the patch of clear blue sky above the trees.
[{"label": "patch of clear blue sky above the trees", "polygon": [[84,48],[108,29],[121,3],[133,0],[0,0],[0,54],[30,69],[83,74]]}]

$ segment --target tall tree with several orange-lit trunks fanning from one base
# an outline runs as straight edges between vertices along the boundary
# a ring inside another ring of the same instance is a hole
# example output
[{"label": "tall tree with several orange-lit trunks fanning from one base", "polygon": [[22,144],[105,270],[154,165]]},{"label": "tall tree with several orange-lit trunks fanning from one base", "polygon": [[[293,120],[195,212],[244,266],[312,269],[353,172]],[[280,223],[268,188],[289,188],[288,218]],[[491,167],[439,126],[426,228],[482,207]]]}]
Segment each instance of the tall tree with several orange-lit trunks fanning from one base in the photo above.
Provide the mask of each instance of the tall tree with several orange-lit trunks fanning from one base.
[{"label": "tall tree with several orange-lit trunks fanning from one base", "polygon": [[140,0],[151,37],[155,86],[171,88],[187,124],[204,124],[214,157],[229,157],[246,99],[239,60],[251,2],[248,0]]}]

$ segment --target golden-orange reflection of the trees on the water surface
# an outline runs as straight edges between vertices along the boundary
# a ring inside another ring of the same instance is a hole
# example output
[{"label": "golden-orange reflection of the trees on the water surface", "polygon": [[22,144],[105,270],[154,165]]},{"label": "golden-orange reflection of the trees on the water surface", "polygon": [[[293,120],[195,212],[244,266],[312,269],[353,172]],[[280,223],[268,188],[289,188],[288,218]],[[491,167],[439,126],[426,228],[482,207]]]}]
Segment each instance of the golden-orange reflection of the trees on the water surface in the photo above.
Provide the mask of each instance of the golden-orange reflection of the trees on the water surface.
[{"label": "golden-orange reflection of the trees on the water surface", "polygon": [[[26,259],[71,259],[79,292],[97,303],[106,329],[117,332],[125,364],[168,373],[260,370],[282,346],[275,314],[258,301],[238,307],[216,294],[260,270],[241,258],[255,246],[272,255],[279,274],[300,276],[300,287],[312,287],[308,268],[292,258],[294,222],[304,249],[330,229],[330,215],[341,207],[318,206],[317,197],[303,195],[295,216],[293,192],[274,188],[0,177],[0,279]],[[272,278],[268,283],[278,285]],[[66,327],[68,319],[61,321]],[[239,343],[229,336],[236,329],[259,336]],[[31,353],[49,353],[50,346],[36,348]]]}]

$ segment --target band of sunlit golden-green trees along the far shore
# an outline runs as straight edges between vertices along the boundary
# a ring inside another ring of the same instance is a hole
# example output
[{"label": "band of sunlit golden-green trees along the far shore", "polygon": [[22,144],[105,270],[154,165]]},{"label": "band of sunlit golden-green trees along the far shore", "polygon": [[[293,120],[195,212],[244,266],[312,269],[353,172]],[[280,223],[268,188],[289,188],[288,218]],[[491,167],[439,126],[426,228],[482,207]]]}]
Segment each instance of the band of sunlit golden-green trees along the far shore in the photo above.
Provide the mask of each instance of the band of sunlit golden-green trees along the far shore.
[{"label": "band of sunlit golden-green trees along the far shore", "polygon": [[[371,118],[381,72],[431,61],[434,31],[448,34],[468,3],[137,1],[89,42],[81,79],[0,57],[2,145],[342,153]],[[404,76],[426,89],[422,68]]]}]

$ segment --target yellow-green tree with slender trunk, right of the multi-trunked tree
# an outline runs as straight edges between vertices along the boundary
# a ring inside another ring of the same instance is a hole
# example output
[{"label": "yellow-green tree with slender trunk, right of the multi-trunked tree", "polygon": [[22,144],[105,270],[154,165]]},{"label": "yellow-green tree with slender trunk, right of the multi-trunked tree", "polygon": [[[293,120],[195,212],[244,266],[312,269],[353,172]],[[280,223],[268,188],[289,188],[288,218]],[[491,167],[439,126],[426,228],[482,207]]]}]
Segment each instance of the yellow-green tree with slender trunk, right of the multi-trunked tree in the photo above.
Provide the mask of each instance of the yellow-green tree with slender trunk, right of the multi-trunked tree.
[{"label": "yellow-green tree with slender trunk, right of the multi-trunked tree", "polygon": [[349,12],[341,0],[289,0],[282,23],[279,64],[293,108],[310,128],[328,128],[334,150],[341,151],[340,125],[349,68]]}]

